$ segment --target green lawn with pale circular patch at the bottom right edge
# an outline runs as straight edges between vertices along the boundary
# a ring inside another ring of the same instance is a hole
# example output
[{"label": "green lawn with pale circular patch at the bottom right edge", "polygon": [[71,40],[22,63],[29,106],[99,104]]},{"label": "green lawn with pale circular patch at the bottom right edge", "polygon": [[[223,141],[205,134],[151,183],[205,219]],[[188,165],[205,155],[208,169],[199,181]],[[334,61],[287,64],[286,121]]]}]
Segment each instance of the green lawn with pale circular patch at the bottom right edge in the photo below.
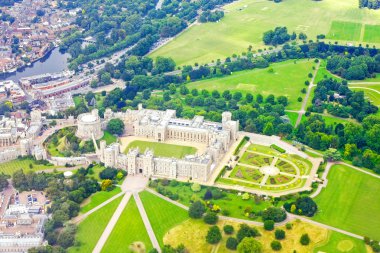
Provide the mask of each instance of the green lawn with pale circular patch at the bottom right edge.
[{"label": "green lawn with pale circular patch at the bottom right edge", "polygon": [[325,244],[316,247],[314,252],[357,253],[367,252],[367,250],[364,241],[330,230],[328,241]]}]

